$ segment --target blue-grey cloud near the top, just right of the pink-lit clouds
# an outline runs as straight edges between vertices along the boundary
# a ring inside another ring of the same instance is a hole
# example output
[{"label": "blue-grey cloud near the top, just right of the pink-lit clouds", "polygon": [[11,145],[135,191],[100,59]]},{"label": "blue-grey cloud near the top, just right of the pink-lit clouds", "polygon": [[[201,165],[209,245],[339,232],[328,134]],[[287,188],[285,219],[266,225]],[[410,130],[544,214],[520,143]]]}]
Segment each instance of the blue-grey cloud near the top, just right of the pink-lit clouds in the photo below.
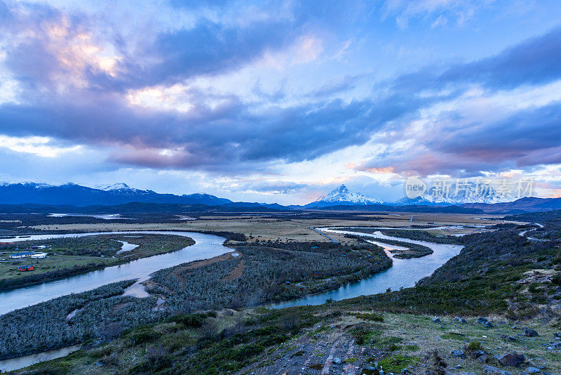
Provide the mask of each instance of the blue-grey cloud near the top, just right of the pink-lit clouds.
[{"label": "blue-grey cloud near the top, just right of the pink-lit clouds", "polygon": [[198,74],[234,70],[259,58],[268,49],[283,48],[297,30],[288,22],[253,22],[243,28],[224,27],[208,20],[192,29],[159,34],[140,51],[143,60],[161,60],[154,65],[130,59],[126,62],[127,88],[173,84]]}]

